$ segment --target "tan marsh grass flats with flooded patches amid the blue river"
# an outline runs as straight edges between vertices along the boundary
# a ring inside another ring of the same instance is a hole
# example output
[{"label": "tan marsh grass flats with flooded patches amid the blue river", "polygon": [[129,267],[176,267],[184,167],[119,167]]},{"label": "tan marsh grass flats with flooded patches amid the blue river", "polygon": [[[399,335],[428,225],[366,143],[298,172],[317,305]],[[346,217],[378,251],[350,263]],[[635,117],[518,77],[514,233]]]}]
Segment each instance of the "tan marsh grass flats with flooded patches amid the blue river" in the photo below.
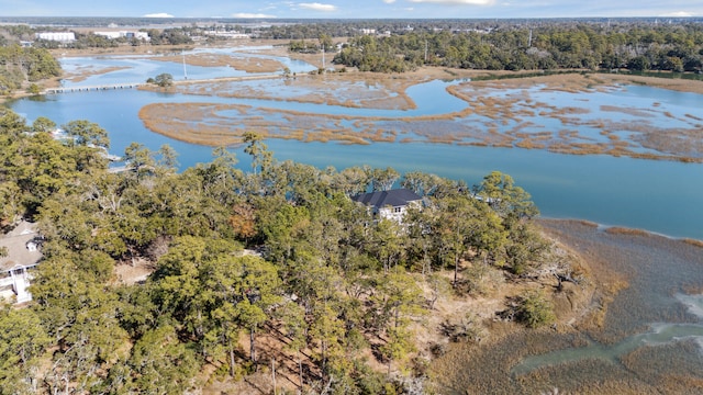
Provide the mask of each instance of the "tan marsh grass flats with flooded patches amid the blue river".
[{"label": "tan marsh grass flats with flooded patches amid the blue river", "polygon": [[[365,75],[366,76],[366,75]],[[220,95],[242,99],[286,100],[313,104],[331,104],[348,108],[411,109],[414,103],[405,94],[408,87],[420,80],[405,78],[378,78],[359,81],[358,75],[301,76],[294,80],[219,81],[212,84],[178,84],[175,89],[199,95]],[[543,83],[542,90],[574,91],[576,87],[602,87],[612,83],[607,78],[582,75],[543,76],[533,79],[466,82],[451,86],[448,91],[467,102],[467,108],[453,113],[425,116],[388,119],[379,116],[346,116],[255,109],[228,105],[182,103],[167,112],[146,108],[140,112],[145,125],[157,133],[194,144],[219,145],[221,138],[236,142],[242,129],[255,129],[272,138],[301,142],[330,142],[339,144],[372,143],[437,143],[469,146],[517,147],[543,149],[565,155],[611,155],[647,160],[678,160],[703,162],[703,140],[699,138],[700,119],[683,117],[690,127],[667,128],[651,124],[648,119],[673,115],[657,109],[633,109],[602,105],[601,111],[618,112],[636,117],[636,121],[614,122],[609,119],[583,119],[588,108],[578,105],[556,106],[535,101],[528,89]],[[291,94],[276,94],[286,86]],[[375,89],[369,90],[371,86]],[[499,88],[522,89],[505,97],[492,94]],[[584,88],[585,89],[585,88]],[[587,89],[590,90],[591,88]],[[576,91],[579,91],[578,89]],[[588,100],[584,100],[588,102]],[[203,109],[201,109],[201,106]],[[539,110],[537,110],[539,109]],[[224,110],[234,111],[225,115]],[[557,120],[562,128],[540,131],[539,125],[527,122],[538,112],[540,117]],[[236,125],[236,127],[227,126]],[[605,140],[584,135],[579,131],[592,128]],[[294,131],[303,129],[304,134]],[[631,132],[623,135],[621,132]],[[613,132],[617,132],[615,134]],[[208,136],[208,134],[213,134]],[[402,136],[402,138],[400,137]]]}]

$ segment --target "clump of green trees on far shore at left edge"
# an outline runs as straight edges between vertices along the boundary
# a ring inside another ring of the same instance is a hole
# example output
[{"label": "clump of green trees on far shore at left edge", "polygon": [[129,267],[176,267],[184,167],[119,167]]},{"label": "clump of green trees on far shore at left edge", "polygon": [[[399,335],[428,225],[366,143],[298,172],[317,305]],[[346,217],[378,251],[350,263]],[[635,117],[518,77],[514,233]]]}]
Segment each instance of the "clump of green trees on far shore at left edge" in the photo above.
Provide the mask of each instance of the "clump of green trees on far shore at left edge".
[{"label": "clump of green trees on far shore at left edge", "polygon": [[0,94],[29,88],[29,83],[59,77],[59,63],[43,48],[23,48],[16,44],[0,46]]}]

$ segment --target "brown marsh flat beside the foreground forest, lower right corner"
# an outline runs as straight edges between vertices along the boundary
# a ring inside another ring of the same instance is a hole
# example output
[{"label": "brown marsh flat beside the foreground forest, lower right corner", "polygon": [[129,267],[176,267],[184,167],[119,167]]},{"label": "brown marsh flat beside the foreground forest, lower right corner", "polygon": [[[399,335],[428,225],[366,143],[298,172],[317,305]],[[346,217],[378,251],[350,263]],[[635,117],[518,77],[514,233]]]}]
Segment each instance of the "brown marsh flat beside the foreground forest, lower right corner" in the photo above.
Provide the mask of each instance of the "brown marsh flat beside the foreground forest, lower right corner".
[{"label": "brown marsh flat beside the foreground forest, lower right corner", "polygon": [[[516,330],[480,346],[457,345],[432,366],[440,394],[655,394],[700,393],[703,353],[695,338],[640,345],[614,360],[595,357],[543,365],[515,375],[527,356],[602,345],[609,350],[654,323],[699,323],[677,294],[703,292],[703,250],[699,246],[645,233],[607,233],[579,221],[540,219],[545,232],[589,262],[599,289],[592,303],[606,307],[602,326],[576,331]],[[625,286],[622,286],[625,285]],[[607,352],[603,352],[607,354]],[[467,368],[470,366],[470,368]]]}]

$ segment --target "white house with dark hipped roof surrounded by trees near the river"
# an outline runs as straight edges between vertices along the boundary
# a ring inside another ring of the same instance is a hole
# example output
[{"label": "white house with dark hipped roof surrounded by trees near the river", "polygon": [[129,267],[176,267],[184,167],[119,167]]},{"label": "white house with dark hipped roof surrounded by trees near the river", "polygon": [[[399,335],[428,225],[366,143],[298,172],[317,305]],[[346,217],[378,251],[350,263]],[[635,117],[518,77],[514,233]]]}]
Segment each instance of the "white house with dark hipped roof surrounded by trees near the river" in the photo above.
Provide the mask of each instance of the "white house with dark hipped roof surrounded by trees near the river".
[{"label": "white house with dark hipped roof surrounded by trees near the river", "polygon": [[403,223],[409,207],[422,207],[422,198],[406,189],[364,193],[352,198],[353,201],[369,206],[373,216]]}]

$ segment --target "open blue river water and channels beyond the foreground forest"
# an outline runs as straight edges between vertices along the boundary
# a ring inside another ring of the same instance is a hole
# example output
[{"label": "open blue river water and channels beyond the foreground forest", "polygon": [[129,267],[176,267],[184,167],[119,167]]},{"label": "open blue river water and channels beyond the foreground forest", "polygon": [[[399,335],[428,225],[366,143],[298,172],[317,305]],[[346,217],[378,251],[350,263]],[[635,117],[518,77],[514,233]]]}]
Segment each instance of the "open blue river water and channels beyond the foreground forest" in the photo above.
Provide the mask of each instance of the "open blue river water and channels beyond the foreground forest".
[{"label": "open blue river water and channels beyond the foreground forest", "polygon": [[[64,67],[78,67],[86,59],[63,59]],[[98,66],[134,66],[107,75],[94,76],[81,84],[90,86],[108,82],[143,81],[160,72],[182,72],[182,65],[153,61],[136,57],[112,57],[91,59]],[[288,63],[289,65],[293,66]],[[302,72],[310,65],[294,65]],[[180,71],[179,71],[180,70]],[[189,78],[222,77],[230,68],[188,67]],[[239,72],[239,71],[236,71]],[[199,97],[145,92],[137,90],[93,91],[48,95],[43,100],[23,99],[8,105],[24,115],[29,122],[37,116],[47,116],[57,124],[74,120],[88,120],[104,127],[112,142],[111,151],[123,153],[132,142],[158,149],[163,144],[171,145],[179,153],[181,167],[211,160],[210,147],[196,146],[164,137],[146,129],[138,119],[140,109],[156,102],[224,102],[255,106],[309,111],[320,114],[358,114],[388,117],[409,115],[431,115],[456,112],[467,103],[448,94],[447,84],[457,82],[431,81],[409,89],[408,94],[416,102],[417,109],[364,110],[346,109],[324,104],[292,103],[286,101],[243,100],[216,97]],[[284,84],[281,84],[284,89]],[[651,109],[656,113],[670,112],[676,117],[685,114],[703,116],[703,95],[681,93],[648,87],[627,87],[612,92],[532,93],[533,99],[550,105],[570,105],[587,102],[593,111],[600,105],[632,106]],[[539,109],[535,109],[538,113]],[[585,119],[592,115],[573,115]],[[596,116],[603,116],[602,114]],[[636,117],[613,113],[609,116],[634,122]],[[529,117],[536,124],[531,129],[540,131],[556,127],[553,119]],[[677,127],[679,121],[656,117],[656,122],[671,122]],[[540,122],[543,122],[540,124]],[[595,136],[587,127],[579,134]],[[401,173],[421,170],[443,177],[466,180],[469,184],[480,182],[492,170],[511,174],[521,187],[534,198],[544,216],[560,218],[583,218],[605,225],[643,228],[672,237],[703,239],[703,165],[676,161],[652,161],[610,156],[572,156],[550,154],[542,150],[518,148],[484,148],[445,144],[400,144],[375,143],[368,146],[349,146],[333,143],[300,143],[295,140],[267,140],[276,158],[294,159],[321,168],[334,166],[343,169],[349,166],[370,165],[393,167]],[[239,166],[249,169],[248,157],[241,148],[233,148],[241,159]]]}]

